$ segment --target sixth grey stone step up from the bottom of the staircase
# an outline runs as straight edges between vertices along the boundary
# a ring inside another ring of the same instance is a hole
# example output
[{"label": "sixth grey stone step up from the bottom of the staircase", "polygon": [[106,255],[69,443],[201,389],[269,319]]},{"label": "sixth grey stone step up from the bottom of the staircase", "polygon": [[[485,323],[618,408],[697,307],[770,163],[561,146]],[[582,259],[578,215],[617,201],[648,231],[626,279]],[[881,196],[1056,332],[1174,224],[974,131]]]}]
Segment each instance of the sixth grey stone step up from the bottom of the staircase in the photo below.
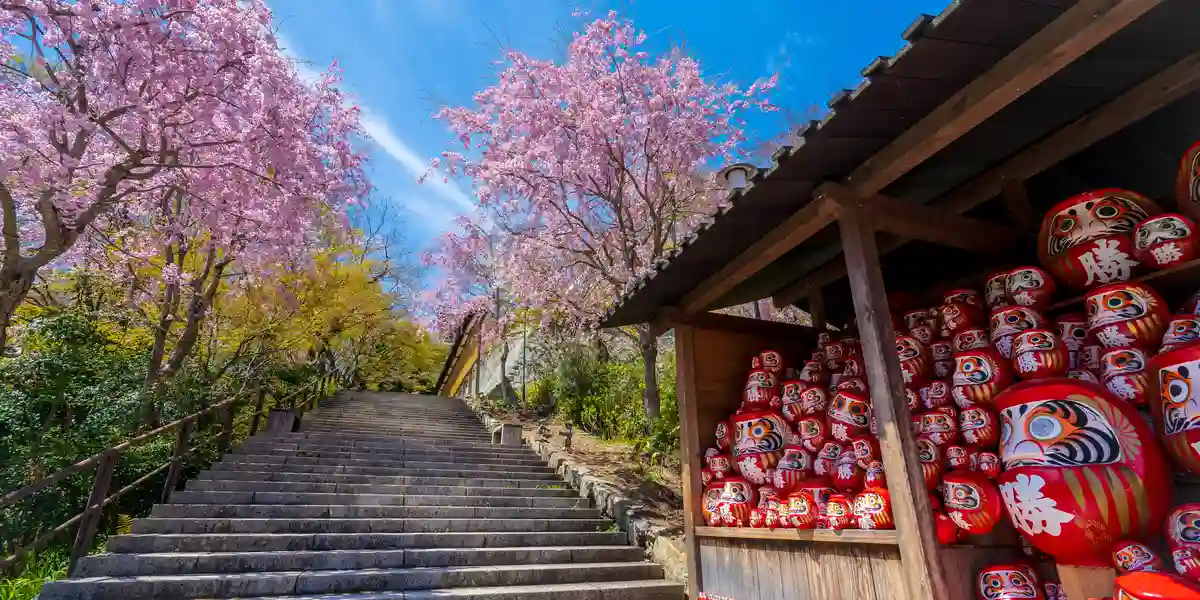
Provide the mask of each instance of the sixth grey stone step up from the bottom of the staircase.
[{"label": "sixth grey stone step up from the bottom of the staircase", "polygon": [[166,518],[601,518],[598,509],[347,506],[330,504],[156,504]]}]

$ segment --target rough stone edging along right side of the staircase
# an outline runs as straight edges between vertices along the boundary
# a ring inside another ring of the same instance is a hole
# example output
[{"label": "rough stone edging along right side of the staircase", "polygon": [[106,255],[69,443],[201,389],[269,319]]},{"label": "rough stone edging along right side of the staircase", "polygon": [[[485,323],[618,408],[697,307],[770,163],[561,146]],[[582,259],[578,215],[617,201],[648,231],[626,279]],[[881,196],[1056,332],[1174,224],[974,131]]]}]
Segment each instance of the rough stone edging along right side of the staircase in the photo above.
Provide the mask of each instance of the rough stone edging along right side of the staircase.
[{"label": "rough stone edging along right side of the staircase", "polygon": [[[487,431],[494,431],[502,424],[508,422],[493,418],[476,402],[467,400],[466,403],[479,416]],[[620,488],[611,481],[588,474],[587,467],[577,464],[569,454],[554,450],[548,442],[535,440],[530,446],[571,488],[578,491],[581,498],[590,499],[604,516],[612,518],[623,532],[629,534],[630,545],[646,548],[647,557],[661,564],[668,578],[688,580],[688,560],[682,535],[664,535],[667,528],[654,524],[647,516],[642,515],[641,503],[623,494]]]}]

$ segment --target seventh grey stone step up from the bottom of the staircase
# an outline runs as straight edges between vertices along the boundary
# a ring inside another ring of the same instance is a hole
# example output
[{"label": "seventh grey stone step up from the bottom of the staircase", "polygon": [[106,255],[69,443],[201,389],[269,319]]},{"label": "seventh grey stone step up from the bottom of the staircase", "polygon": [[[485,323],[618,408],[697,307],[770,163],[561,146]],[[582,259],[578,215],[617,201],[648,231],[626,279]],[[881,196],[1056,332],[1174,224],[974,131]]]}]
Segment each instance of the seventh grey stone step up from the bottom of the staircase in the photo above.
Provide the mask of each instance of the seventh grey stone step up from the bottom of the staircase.
[{"label": "seventh grey stone step up from the bottom of the staircase", "polygon": [[527,496],[396,496],[376,493],[194,492],[170,494],[172,504],[328,504],[347,506],[492,506],[588,509],[587,498]]}]

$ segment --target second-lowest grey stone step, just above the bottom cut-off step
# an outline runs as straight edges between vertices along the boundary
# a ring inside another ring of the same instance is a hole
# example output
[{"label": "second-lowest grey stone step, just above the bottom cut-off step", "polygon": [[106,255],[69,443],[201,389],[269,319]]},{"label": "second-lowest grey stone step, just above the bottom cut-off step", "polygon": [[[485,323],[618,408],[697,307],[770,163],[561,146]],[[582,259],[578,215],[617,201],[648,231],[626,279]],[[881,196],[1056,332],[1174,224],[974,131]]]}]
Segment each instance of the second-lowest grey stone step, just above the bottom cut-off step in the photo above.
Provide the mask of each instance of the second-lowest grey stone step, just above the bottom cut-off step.
[{"label": "second-lowest grey stone step, just above the bottom cut-off step", "polygon": [[[438,566],[356,571],[271,571],[236,575],[88,577],[49,582],[41,600],[191,600],[248,595],[344,594],[487,586],[652,580],[650,563]],[[406,594],[407,595],[407,594]]]}]

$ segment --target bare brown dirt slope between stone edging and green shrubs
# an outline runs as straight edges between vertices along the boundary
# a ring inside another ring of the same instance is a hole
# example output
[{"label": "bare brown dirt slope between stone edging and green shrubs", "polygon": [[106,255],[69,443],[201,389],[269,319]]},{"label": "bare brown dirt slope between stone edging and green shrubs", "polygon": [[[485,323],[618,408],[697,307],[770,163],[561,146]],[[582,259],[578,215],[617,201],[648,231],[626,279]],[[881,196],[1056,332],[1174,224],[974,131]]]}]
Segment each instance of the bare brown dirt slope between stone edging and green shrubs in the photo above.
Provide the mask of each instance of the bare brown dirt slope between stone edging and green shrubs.
[{"label": "bare brown dirt slope between stone edging and green shrubs", "polygon": [[[565,427],[553,418],[539,418],[529,410],[520,410],[499,403],[490,403],[488,412],[497,419],[520,422],[526,442],[548,439],[556,451],[563,450]],[[545,426],[545,431],[541,427]],[[650,464],[634,452],[632,444],[596,438],[576,428],[571,436],[571,449],[565,450],[581,467],[606,481],[611,481],[629,498],[646,505],[643,515],[654,524],[683,532],[683,492],[678,456]]]}]

